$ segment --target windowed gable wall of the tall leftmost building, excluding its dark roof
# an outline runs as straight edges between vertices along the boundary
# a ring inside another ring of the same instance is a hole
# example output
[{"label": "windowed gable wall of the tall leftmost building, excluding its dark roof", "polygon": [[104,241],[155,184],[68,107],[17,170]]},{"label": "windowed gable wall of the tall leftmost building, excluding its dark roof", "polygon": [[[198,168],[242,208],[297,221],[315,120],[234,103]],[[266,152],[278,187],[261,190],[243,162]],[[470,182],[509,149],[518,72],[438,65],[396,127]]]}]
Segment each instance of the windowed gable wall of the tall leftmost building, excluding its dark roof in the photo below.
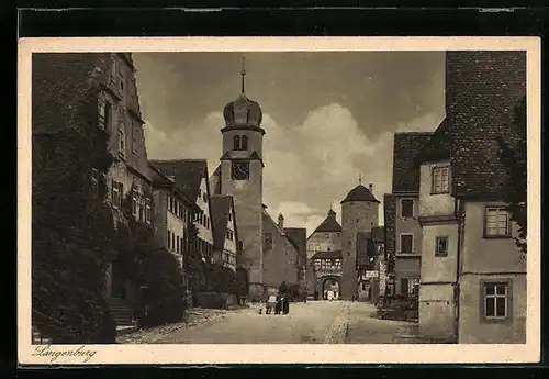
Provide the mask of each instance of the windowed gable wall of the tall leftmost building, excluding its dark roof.
[{"label": "windowed gable wall of the tall leftmost building, excluding its dark roof", "polygon": [[[101,76],[98,97],[99,126],[108,132],[108,148],[114,157],[107,172],[107,201],[116,223],[126,223],[127,218],[133,218],[152,225],[153,188],[135,67],[130,53],[113,53],[108,57],[109,68],[107,75]],[[115,258],[107,270],[107,297],[116,306],[121,303],[130,306],[138,297],[138,289],[123,266]]]}]

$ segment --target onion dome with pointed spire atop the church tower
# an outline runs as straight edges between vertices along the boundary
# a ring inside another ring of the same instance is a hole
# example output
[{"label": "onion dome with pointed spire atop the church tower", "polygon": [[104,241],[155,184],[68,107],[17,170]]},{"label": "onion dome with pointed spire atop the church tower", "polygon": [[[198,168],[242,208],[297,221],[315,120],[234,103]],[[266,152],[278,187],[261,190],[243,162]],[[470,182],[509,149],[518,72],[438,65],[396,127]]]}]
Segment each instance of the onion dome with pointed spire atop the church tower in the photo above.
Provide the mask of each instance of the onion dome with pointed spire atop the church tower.
[{"label": "onion dome with pointed spire atop the church tower", "polygon": [[251,126],[259,127],[261,126],[261,121],[264,114],[261,112],[261,107],[246,97],[244,91],[244,77],[246,76],[246,71],[244,69],[244,60],[243,60],[243,70],[242,75],[242,93],[240,96],[231,101],[223,109],[223,118],[225,119],[226,127],[231,126]]}]

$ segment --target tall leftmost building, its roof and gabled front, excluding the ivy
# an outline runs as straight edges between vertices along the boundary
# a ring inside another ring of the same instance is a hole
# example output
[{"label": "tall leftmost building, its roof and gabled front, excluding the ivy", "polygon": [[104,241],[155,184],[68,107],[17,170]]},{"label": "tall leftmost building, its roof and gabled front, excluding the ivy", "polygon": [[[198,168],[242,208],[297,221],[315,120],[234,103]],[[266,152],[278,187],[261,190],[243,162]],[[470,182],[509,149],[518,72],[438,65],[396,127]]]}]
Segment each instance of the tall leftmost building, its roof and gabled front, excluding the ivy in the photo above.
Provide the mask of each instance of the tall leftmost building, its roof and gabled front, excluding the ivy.
[{"label": "tall leftmost building, its roof and gabled front, excluding the ivy", "polygon": [[[90,152],[75,152],[71,137],[100,144],[93,127],[104,131],[113,163],[107,169],[93,163],[88,176],[93,196],[99,183],[107,186],[104,202],[112,210],[115,227],[133,219],[153,227],[154,201],[141,115],[135,68],[130,53],[35,54],[33,55],[33,185],[36,169],[58,159],[75,159]],[[78,182],[79,178],[75,178]],[[47,183],[42,183],[47,186]],[[81,189],[77,189],[80,191]],[[116,323],[132,322],[136,285],[123,267],[120,252],[105,270],[104,297]],[[115,308],[115,309],[114,309]],[[121,311],[121,312],[119,312]],[[123,313],[123,314],[122,314]]]}]

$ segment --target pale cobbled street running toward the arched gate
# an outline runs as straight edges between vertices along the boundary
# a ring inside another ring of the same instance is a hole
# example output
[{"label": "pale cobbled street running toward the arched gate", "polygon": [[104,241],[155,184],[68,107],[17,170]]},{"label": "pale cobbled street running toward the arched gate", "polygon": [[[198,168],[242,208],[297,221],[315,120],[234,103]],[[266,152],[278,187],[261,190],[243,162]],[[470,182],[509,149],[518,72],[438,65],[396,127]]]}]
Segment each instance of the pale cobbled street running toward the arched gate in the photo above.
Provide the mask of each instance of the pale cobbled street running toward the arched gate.
[{"label": "pale cobbled street running toward the arched gate", "polygon": [[[155,344],[410,344],[416,324],[370,317],[373,304],[346,301],[292,303],[288,315],[259,314],[259,305],[154,338]],[[221,312],[221,311],[217,311]],[[139,343],[125,338],[126,343]],[[141,342],[144,343],[144,342]]]}]

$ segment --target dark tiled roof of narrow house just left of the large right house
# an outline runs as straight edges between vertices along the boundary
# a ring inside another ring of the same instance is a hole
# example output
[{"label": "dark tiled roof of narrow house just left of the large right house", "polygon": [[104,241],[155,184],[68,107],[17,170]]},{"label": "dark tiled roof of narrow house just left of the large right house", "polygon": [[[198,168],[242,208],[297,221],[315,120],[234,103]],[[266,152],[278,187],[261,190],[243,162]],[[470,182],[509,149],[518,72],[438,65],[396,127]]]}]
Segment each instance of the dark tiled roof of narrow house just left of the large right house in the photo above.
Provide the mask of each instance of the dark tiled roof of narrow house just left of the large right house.
[{"label": "dark tiled roof of narrow house just left of the large right house", "polygon": [[429,142],[433,133],[395,133],[393,147],[392,192],[418,192],[419,166],[414,158]]}]

